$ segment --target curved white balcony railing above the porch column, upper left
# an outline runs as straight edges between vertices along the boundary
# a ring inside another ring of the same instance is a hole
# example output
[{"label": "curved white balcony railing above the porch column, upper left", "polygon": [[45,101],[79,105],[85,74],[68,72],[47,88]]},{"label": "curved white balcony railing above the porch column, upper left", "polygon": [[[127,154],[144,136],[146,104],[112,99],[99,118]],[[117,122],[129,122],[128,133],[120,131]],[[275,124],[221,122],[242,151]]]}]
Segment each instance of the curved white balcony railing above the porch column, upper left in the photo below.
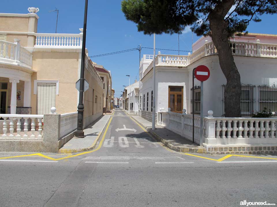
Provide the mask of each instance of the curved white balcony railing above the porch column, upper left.
[{"label": "curved white balcony railing above the porch column, upper left", "polygon": [[32,67],[32,53],[20,46],[20,40],[14,39],[14,43],[0,40],[0,62],[12,64],[23,63]]}]

